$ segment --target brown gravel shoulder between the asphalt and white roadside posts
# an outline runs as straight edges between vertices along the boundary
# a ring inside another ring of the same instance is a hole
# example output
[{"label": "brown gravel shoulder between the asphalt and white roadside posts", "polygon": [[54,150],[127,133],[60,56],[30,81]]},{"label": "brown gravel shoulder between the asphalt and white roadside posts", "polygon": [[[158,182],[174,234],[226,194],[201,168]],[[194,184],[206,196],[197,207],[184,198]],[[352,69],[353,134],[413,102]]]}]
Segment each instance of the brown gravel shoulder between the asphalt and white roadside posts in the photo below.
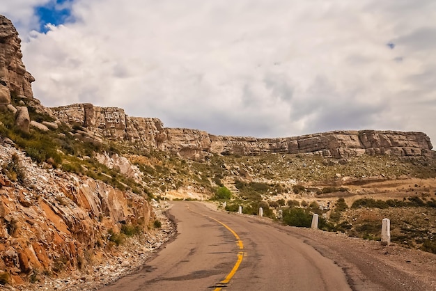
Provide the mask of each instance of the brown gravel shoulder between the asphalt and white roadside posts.
[{"label": "brown gravel shoulder between the asphalt and white roadside posts", "polygon": [[397,244],[348,237],[311,228],[282,226],[267,218],[260,223],[292,233],[343,269],[352,290],[436,290],[436,255]]}]

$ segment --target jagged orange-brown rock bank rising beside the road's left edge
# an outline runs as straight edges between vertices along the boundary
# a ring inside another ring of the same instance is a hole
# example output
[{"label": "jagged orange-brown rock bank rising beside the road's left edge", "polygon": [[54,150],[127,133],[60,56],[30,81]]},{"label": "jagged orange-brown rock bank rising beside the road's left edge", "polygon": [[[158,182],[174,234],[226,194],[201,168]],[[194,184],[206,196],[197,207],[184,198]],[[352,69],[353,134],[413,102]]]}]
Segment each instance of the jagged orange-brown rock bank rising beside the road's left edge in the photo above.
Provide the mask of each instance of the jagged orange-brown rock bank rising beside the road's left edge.
[{"label": "jagged orange-brown rock bank rising beside the road's left edge", "polygon": [[12,284],[32,274],[83,267],[110,255],[108,230],[123,224],[147,230],[148,201],[91,178],[36,167],[22,152],[0,145],[0,164],[17,163],[25,178],[0,173],[0,270]]}]

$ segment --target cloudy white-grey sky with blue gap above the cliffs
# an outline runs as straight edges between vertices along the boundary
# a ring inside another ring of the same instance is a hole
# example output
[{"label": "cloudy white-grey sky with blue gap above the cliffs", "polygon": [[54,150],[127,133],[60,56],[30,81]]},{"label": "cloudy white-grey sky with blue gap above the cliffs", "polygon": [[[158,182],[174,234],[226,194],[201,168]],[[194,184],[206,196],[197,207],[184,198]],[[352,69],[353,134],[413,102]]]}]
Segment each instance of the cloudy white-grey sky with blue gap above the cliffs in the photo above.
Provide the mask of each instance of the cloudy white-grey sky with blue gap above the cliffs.
[{"label": "cloudy white-grey sky with blue gap above the cliffs", "polygon": [[1,2],[46,106],[212,134],[393,129],[436,143],[434,0]]}]

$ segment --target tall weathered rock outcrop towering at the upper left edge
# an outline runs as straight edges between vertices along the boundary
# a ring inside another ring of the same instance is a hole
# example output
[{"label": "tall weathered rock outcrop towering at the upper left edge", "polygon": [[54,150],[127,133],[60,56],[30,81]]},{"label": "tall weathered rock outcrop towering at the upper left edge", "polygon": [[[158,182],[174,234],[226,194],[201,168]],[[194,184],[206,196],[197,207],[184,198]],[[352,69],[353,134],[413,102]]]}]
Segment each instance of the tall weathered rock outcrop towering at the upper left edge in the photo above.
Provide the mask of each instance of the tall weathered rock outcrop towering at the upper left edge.
[{"label": "tall weathered rock outcrop towering at the upper left edge", "polygon": [[21,40],[12,22],[0,15],[0,105],[10,104],[10,93],[33,98],[35,81],[22,62]]}]

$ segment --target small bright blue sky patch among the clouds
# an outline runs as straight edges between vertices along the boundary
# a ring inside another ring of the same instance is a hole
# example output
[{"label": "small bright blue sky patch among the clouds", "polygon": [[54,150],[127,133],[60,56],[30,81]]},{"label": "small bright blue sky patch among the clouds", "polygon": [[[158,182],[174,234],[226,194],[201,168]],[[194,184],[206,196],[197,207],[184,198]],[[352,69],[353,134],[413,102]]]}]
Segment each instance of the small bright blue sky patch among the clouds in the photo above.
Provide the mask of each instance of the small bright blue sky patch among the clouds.
[{"label": "small bright blue sky patch among the clouds", "polygon": [[35,14],[40,18],[38,31],[46,33],[49,31],[46,24],[58,26],[65,22],[71,22],[71,3],[72,0],[49,1],[45,6],[35,8]]}]

